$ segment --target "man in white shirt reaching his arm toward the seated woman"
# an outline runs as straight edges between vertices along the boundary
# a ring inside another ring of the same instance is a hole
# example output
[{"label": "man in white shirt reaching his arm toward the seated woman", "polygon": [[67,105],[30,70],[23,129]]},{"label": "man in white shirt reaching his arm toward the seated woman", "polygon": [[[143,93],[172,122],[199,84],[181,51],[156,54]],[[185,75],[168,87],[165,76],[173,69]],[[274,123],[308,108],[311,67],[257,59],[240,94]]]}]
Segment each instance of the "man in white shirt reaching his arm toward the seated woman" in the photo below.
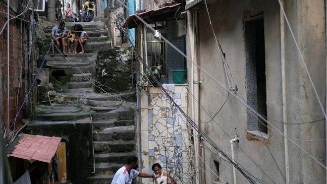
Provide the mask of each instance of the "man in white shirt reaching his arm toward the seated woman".
[{"label": "man in white shirt reaching his arm toward the seated woman", "polygon": [[156,178],[155,175],[136,171],[137,160],[135,156],[127,158],[127,163],[114,174],[111,184],[131,184],[132,180],[136,177]]}]

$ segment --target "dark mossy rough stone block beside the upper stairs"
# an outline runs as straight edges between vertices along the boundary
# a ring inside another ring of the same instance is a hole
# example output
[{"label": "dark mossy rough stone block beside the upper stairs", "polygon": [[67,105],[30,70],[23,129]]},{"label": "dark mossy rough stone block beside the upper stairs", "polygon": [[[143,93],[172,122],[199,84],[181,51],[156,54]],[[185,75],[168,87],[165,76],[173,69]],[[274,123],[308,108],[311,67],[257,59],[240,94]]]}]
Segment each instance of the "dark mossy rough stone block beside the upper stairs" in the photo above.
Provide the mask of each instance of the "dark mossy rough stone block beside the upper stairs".
[{"label": "dark mossy rough stone block beside the upper stairs", "polygon": [[[135,54],[135,52],[134,52]],[[94,79],[108,86],[106,91],[127,91],[135,88],[136,62],[133,49],[108,49],[98,52],[98,58],[93,70]],[[99,88],[95,88],[103,92]]]}]

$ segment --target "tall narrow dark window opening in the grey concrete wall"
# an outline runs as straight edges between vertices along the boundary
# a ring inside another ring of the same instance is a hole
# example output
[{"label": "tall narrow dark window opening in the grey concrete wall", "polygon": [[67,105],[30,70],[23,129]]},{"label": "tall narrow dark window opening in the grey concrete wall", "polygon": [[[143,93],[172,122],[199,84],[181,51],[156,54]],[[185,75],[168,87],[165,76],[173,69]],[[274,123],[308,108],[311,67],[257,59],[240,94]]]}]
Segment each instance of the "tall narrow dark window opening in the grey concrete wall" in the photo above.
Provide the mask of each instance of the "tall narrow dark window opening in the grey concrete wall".
[{"label": "tall narrow dark window opening in the grey concrete wall", "polygon": [[[267,92],[264,19],[261,16],[247,20],[244,26],[247,102],[266,119]],[[250,133],[268,138],[268,128],[265,120],[248,110],[247,122]]]}]

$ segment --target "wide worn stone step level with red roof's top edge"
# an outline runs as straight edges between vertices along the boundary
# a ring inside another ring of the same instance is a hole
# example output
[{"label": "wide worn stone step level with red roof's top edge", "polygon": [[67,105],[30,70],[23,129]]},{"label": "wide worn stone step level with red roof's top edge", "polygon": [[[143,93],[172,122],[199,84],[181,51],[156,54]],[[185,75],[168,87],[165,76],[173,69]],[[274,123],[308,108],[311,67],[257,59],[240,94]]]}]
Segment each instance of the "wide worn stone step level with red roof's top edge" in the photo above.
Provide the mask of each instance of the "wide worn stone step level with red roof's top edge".
[{"label": "wide worn stone step level with red roof's top edge", "polygon": [[109,127],[93,133],[95,141],[134,140],[134,137],[134,125]]}]

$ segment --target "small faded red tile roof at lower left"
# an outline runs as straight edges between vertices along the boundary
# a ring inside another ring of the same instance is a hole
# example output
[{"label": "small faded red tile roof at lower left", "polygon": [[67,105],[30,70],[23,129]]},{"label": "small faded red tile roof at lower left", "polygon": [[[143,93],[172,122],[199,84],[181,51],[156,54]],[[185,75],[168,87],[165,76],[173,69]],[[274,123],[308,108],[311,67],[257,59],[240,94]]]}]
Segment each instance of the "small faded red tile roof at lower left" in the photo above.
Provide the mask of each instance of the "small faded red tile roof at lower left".
[{"label": "small faded red tile roof at lower left", "polygon": [[17,157],[26,160],[38,160],[50,163],[60,143],[60,137],[23,134],[8,157]]}]

